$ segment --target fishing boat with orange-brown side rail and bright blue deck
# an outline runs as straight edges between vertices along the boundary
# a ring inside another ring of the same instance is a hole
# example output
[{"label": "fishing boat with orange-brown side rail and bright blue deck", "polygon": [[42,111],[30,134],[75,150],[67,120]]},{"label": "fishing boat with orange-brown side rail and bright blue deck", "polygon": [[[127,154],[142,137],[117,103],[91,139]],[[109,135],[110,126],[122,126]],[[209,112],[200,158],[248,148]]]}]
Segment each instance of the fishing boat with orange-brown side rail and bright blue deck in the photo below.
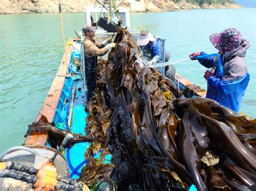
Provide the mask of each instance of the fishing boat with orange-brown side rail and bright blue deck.
[{"label": "fishing boat with orange-brown side rail and bright blue deck", "polygon": [[[93,24],[102,14],[109,10],[93,7],[85,8],[87,24]],[[124,27],[130,27],[129,11],[120,8],[120,17]],[[116,21],[113,17],[113,22]],[[107,23],[105,23],[107,24]],[[130,32],[134,41],[138,32]],[[96,39],[103,41],[113,33],[99,29]],[[157,37],[160,52],[160,62],[165,62],[165,39]],[[29,125],[22,146],[12,147],[0,157],[0,190],[89,190],[79,179],[82,168],[87,164],[85,153],[87,148],[98,141],[86,136],[85,126],[88,112],[85,106],[86,81],[84,70],[83,34],[79,40],[69,39],[65,54],[48,95],[35,121]],[[104,57],[106,58],[106,57]],[[164,68],[160,68],[163,69]],[[185,97],[205,97],[205,89],[176,73],[173,79],[178,90]],[[101,149],[95,149],[92,157],[102,160],[103,164],[111,164],[112,155],[104,154]],[[15,180],[14,180],[15,179]],[[116,190],[116,186],[105,182],[105,188],[99,188],[96,182],[92,190]],[[197,190],[191,184],[190,190]],[[139,189],[138,189],[139,190]]]}]

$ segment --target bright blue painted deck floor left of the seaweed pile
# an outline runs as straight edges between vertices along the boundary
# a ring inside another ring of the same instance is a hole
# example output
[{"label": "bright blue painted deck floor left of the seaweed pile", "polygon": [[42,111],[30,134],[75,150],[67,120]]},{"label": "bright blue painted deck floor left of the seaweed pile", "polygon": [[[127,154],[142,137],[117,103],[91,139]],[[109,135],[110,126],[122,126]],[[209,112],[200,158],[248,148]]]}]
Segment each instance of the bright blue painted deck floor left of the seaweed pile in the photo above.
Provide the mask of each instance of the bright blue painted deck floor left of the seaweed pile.
[{"label": "bright blue painted deck floor left of the seaweed pile", "polygon": [[[72,49],[69,66],[69,72],[72,76],[65,79],[53,122],[59,129],[85,136],[85,119],[87,116],[84,104],[85,92],[80,72],[73,66],[73,58],[80,59],[79,49]],[[84,153],[90,145],[90,142],[81,142],[65,149],[64,157],[68,162],[71,178],[78,178],[81,169],[86,165]],[[100,152],[101,150],[94,153],[94,158],[99,158]],[[111,157],[110,154],[107,154],[104,163],[109,163]]]}]

